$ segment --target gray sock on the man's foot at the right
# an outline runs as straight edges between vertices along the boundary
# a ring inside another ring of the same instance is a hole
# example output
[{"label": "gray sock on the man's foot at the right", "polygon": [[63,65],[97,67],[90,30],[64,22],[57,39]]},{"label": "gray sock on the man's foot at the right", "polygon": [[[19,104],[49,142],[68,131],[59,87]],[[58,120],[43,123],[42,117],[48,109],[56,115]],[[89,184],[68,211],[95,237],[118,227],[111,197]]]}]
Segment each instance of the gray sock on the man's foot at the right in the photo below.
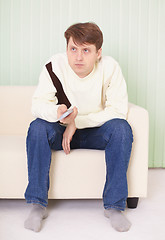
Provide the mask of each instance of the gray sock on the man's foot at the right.
[{"label": "gray sock on the man's foot at the right", "polygon": [[118,232],[127,232],[131,227],[128,219],[117,209],[105,209],[104,215],[110,219],[112,227]]}]

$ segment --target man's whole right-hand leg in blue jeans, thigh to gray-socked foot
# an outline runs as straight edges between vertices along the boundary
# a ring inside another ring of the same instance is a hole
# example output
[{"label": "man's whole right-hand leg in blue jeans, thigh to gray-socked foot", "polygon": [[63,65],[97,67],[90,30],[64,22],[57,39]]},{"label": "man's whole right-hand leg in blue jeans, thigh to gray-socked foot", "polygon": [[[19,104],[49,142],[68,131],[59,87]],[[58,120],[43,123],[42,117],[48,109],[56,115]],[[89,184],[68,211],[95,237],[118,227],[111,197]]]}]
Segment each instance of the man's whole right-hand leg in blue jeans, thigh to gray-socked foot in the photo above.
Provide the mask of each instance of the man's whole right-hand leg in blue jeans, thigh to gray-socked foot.
[{"label": "man's whole right-hand leg in blue jeans, thigh to gray-socked foot", "polygon": [[105,215],[117,231],[128,231],[130,223],[121,211],[128,196],[126,173],[133,141],[131,127],[125,120],[113,119],[99,128],[82,130],[82,135],[82,148],[105,149]]}]

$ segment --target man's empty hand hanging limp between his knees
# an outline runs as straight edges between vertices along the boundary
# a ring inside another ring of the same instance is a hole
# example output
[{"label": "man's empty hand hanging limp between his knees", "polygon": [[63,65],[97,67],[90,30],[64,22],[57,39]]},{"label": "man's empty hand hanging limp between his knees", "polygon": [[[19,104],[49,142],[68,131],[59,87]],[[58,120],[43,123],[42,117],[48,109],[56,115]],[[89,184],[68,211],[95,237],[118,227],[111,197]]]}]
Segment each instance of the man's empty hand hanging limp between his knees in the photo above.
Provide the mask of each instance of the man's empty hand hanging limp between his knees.
[{"label": "man's empty hand hanging limp between his knees", "polygon": [[75,122],[73,121],[66,127],[65,132],[63,134],[62,147],[66,154],[70,153],[70,142],[72,141],[72,137],[75,131],[76,125]]}]

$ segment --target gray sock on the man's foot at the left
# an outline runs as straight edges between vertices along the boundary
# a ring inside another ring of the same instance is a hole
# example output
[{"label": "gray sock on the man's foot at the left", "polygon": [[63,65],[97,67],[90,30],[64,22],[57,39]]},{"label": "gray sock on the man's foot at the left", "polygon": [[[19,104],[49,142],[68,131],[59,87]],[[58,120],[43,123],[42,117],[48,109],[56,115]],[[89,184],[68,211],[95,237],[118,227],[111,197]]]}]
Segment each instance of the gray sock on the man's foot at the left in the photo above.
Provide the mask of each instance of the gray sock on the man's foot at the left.
[{"label": "gray sock on the man's foot at the left", "polygon": [[41,230],[42,220],[48,216],[46,207],[33,204],[32,210],[24,223],[24,227],[35,232]]}]

